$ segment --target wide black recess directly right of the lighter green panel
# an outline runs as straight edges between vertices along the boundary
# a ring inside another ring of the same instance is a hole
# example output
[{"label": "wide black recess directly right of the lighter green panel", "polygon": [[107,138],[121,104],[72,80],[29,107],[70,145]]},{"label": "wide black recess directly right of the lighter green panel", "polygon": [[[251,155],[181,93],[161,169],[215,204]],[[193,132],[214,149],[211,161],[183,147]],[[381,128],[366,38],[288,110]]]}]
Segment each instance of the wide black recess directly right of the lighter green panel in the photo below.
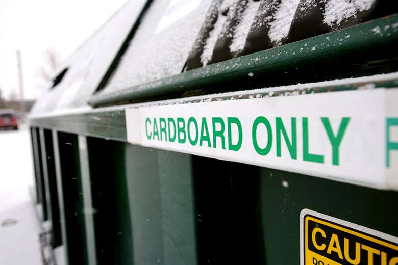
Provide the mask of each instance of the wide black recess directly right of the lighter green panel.
[{"label": "wide black recess directly right of the lighter green panel", "polygon": [[264,264],[259,168],[193,156],[200,264]]}]

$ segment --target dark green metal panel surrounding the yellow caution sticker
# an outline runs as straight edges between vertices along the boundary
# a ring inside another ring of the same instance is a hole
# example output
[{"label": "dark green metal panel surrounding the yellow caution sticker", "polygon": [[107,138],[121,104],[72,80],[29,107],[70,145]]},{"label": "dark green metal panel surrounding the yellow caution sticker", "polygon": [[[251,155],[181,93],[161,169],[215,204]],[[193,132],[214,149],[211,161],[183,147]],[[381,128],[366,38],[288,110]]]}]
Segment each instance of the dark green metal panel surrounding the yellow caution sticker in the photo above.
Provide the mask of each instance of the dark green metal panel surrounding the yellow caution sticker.
[{"label": "dark green metal panel surrounding the yellow caution sticker", "polygon": [[266,168],[259,176],[266,264],[300,263],[303,208],[398,236],[397,192]]}]

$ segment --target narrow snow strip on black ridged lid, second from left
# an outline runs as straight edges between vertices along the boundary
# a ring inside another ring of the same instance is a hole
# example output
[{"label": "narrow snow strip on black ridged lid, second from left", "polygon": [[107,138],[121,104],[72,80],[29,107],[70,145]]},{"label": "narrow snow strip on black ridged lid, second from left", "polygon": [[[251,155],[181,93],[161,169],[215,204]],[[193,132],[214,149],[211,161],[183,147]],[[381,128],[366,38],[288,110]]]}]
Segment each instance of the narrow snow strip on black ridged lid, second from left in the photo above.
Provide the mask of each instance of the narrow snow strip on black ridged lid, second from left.
[{"label": "narrow snow strip on black ridged lid, second from left", "polygon": [[250,28],[257,14],[260,3],[261,1],[255,2],[253,0],[250,0],[247,3],[246,9],[244,10],[242,15],[242,19],[239,22],[239,24],[236,26],[234,32],[234,38],[230,45],[230,50],[232,52],[238,52],[243,50],[247,34],[250,31]]}]

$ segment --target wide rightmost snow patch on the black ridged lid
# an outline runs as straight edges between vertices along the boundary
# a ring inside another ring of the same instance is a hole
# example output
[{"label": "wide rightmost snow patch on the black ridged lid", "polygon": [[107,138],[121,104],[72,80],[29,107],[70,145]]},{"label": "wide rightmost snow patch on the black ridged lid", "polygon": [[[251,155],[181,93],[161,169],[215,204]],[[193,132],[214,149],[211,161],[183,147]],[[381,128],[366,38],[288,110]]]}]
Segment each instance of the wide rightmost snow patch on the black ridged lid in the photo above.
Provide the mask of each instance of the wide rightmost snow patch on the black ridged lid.
[{"label": "wide rightmost snow patch on the black ridged lid", "polygon": [[324,23],[333,26],[369,10],[376,0],[329,0],[325,4]]}]

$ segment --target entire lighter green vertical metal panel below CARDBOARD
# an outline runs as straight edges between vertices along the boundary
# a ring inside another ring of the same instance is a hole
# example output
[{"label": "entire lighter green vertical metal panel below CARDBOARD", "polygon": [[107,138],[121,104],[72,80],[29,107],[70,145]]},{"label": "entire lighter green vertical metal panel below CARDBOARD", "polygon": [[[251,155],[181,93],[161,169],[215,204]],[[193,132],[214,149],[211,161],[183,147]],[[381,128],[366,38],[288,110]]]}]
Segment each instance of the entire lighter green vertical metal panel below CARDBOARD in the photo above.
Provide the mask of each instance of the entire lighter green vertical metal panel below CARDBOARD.
[{"label": "entire lighter green vertical metal panel below CARDBOARD", "polygon": [[126,144],[135,264],[196,264],[190,155]]}]

